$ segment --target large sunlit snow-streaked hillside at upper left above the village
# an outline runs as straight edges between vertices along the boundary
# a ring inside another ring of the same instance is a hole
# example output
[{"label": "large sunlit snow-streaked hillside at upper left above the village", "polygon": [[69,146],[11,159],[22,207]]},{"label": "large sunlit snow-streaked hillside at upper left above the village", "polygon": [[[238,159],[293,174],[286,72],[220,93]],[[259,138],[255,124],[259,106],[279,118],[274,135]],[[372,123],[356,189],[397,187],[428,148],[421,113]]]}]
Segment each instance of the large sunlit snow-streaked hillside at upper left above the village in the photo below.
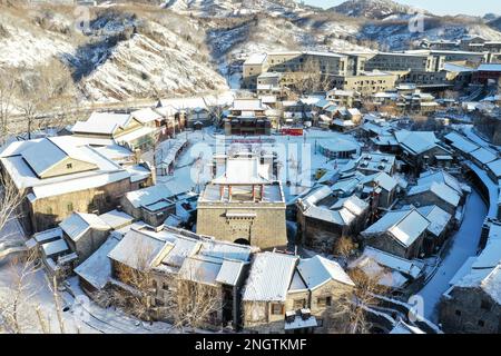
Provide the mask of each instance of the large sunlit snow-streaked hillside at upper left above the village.
[{"label": "large sunlit snow-streaked hillside at upper left above the village", "polygon": [[0,65],[31,68],[57,57],[70,67],[82,99],[92,101],[227,88],[196,20],[117,11],[96,13],[85,34],[73,29],[69,11],[41,17],[33,9],[22,18],[2,11],[0,47],[8,50],[0,52]]}]

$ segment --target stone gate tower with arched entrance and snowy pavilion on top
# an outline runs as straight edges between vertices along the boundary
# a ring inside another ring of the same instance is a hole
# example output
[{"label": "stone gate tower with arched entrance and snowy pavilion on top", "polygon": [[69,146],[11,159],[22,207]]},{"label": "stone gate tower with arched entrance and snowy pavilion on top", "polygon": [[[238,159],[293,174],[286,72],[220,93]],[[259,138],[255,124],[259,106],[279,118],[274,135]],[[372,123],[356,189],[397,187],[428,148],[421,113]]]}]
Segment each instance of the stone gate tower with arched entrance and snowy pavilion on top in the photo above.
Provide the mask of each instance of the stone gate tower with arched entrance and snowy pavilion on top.
[{"label": "stone gate tower with arched entrance and snowy pavilion on top", "polygon": [[264,176],[259,157],[235,155],[202,192],[197,234],[263,249],[287,245],[282,184]]}]

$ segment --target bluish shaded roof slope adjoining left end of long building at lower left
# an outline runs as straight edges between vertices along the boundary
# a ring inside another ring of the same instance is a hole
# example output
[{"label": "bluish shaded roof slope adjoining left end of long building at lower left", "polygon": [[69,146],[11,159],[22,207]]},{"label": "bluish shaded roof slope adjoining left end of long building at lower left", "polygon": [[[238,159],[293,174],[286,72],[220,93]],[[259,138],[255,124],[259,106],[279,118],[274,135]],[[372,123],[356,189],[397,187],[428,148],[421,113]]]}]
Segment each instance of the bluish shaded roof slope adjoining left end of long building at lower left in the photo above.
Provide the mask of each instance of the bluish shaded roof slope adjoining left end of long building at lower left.
[{"label": "bluish shaded roof slope adjoining left end of long building at lower left", "polygon": [[118,239],[109,237],[89,258],[75,268],[75,273],[96,289],[102,289],[111,277],[111,260],[108,254],[117,246]]}]

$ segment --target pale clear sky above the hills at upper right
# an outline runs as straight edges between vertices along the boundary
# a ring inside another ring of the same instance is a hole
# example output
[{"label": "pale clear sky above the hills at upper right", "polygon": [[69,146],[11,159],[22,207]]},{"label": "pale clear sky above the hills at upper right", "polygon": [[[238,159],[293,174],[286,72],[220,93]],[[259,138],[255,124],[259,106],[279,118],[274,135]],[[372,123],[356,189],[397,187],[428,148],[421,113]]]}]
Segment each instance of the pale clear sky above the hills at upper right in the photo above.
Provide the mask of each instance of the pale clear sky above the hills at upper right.
[{"label": "pale clear sky above the hills at upper right", "polygon": [[[304,0],[307,4],[322,8],[331,8],[343,1],[344,0]],[[483,16],[488,12],[501,14],[500,0],[397,0],[396,2],[411,4],[436,14],[464,13]]]}]

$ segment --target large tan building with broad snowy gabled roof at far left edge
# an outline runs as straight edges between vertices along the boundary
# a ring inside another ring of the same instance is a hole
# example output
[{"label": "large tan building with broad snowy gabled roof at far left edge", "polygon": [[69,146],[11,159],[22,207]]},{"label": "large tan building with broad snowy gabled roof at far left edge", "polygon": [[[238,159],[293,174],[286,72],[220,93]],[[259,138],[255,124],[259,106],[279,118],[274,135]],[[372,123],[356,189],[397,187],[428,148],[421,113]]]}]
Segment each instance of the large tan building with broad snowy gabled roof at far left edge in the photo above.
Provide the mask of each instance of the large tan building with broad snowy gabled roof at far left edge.
[{"label": "large tan building with broad snowy gabled roof at far left edge", "polygon": [[24,197],[20,220],[27,231],[55,227],[73,211],[112,210],[137,186],[134,170],[85,142],[61,136],[17,141],[0,152],[3,177]]}]

